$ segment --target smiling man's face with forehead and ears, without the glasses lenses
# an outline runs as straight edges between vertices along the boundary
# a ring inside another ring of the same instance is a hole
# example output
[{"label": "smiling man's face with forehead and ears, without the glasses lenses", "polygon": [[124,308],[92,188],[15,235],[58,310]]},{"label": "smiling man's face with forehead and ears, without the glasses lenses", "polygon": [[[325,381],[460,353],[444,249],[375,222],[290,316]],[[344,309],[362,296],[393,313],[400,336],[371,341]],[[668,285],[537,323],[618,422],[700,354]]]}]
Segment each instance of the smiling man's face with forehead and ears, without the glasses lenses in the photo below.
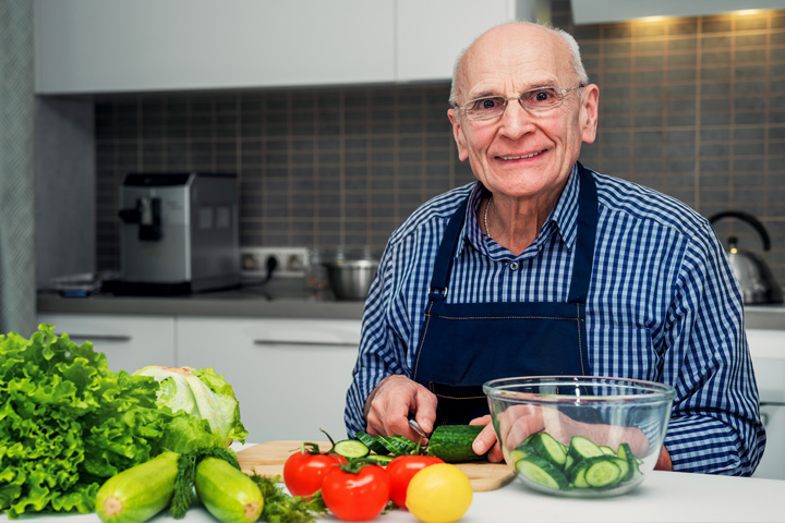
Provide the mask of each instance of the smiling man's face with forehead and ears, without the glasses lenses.
[{"label": "smiling man's face with forehead and ears, without the glasses lenses", "polygon": [[[482,96],[516,97],[524,90],[575,87],[563,40],[538,26],[500,26],[481,37],[464,58],[458,78],[458,104]],[[478,180],[494,194],[527,198],[560,193],[582,142],[596,132],[597,88],[590,85],[565,95],[560,107],[529,112],[517,99],[491,120],[468,120],[450,109],[461,161],[469,159]]]}]

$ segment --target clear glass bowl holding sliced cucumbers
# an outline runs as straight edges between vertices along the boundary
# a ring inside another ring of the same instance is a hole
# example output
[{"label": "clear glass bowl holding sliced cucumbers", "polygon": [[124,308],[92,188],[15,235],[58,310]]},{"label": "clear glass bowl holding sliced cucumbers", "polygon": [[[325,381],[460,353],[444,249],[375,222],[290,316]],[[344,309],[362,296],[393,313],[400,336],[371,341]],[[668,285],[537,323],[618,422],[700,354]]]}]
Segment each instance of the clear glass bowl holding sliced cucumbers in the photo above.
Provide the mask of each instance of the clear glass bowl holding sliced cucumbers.
[{"label": "clear glass bowl holding sliced cucumbers", "polygon": [[483,390],[516,476],[570,497],[640,485],[656,464],[676,396],[662,384],[584,376],[495,379]]}]

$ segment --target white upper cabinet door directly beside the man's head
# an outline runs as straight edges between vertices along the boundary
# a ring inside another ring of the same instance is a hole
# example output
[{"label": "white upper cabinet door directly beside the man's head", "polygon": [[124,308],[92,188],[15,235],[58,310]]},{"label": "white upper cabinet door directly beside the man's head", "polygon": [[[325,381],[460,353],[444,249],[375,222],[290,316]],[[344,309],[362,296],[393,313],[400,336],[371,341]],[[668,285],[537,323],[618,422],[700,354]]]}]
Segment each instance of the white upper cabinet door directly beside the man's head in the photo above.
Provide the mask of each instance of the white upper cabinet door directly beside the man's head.
[{"label": "white upper cabinet door directly beside the man's head", "polygon": [[514,0],[397,0],[399,82],[452,77],[458,53],[486,29],[516,17]]}]

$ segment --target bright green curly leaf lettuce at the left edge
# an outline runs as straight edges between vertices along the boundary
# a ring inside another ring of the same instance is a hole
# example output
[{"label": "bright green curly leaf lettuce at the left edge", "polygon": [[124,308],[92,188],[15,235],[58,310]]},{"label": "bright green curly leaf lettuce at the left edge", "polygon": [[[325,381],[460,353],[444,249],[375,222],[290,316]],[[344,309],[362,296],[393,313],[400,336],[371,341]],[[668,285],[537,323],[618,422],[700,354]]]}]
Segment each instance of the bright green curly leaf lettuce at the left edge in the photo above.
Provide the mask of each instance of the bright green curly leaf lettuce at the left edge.
[{"label": "bright green curly leaf lettuce at the left edge", "polygon": [[0,335],[0,511],[9,518],[93,512],[114,474],[164,450],[225,443],[208,421],[161,405],[155,378],[113,373],[90,342],[38,329],[29,340]]}]

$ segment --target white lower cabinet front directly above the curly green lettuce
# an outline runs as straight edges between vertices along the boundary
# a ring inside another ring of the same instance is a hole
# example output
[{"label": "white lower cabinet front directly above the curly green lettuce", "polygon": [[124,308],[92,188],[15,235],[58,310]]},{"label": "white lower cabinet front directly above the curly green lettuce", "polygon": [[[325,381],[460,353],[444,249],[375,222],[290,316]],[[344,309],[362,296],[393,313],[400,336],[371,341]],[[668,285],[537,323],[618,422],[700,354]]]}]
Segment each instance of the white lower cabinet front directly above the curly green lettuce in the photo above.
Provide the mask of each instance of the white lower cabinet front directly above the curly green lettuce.
[{"label": "white lower cabinet front directly above the curly green lettuce", "polygon": [[39,324],[52,324],[74,343],[93,342],[116,373],[133,373],[145,365],[174,366],[174,318],[90,314],[39,314]]}]

